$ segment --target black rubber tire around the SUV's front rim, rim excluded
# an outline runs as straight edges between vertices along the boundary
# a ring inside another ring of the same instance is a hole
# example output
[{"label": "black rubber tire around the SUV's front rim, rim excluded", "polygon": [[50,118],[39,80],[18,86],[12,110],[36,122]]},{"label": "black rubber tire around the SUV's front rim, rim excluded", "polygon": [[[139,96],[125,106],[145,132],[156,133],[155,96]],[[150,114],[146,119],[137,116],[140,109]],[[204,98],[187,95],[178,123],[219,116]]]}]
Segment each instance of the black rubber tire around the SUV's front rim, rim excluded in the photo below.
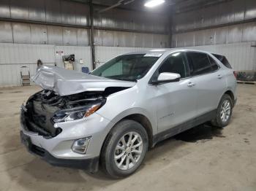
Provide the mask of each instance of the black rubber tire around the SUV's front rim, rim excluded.
[{"label": "black rubber tire around the SUV's front rim, rim excluded", "polygon": [[[105,169],[108,174],[116,178],[129,176],[130,174],[135,172],[139,168],[140,164],[143,162],[143,159],[148,150],[148,135],[146,133],[146,130],[143,128],[142,125],[140,125],[140,123],[132,120],[124,120],[122,122],[119,122],[112,131],[113,132],[111,134],[110,140],[108,141],[108,146],[105,149]],[[140,155],[140,159],[138,160],[138,162],[129,170],[123,171],[116,166],[116,163],[114,161],[114,153],[116,145],[118,144],[118,141],[121,139],[121,137],[131,131],[135,131],[136,133],[140,134],[141,138],[143,139],[143,151]]]}]

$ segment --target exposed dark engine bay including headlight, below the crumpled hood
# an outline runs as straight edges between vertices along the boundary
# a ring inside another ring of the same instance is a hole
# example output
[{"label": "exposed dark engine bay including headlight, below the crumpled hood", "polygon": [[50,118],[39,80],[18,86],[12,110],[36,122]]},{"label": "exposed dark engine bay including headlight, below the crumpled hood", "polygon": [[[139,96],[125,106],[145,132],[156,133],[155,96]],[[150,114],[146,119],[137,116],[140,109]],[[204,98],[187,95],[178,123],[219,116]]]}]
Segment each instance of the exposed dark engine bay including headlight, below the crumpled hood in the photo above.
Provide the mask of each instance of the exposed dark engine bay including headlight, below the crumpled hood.
[{"label": "exposed dark engine bay including headlight, below the crumpled hood", "polygon": [[129,87],[107,87],[104,91],[87,91],[60,96],[52,90],[32,95],[21,111],[21,120],[27,130],[50,139],[61,133],[57,122],[80,120],[93,114],[105,104],[108,95]]}]

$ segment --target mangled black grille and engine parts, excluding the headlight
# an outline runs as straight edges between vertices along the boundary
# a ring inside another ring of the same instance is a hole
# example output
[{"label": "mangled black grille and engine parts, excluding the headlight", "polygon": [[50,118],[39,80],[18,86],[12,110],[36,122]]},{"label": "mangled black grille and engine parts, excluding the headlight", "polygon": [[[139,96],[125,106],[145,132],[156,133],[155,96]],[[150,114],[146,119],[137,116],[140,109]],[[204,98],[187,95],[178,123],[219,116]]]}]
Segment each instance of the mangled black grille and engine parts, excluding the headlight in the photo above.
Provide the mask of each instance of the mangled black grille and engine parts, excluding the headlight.
[{"label": "mangled black grille and engine parts, excluding the headlight", "polygon": [[61,128],[54,128],[53,116],[62,109],[85,106],[91,101],[102,99],[102,92],[85,92],[74,95],[59,96],[53,91],[42,90],[29,98],[26,112],[21,112],[21,122],[27,130],[41,136],[54,137],[61,133]]}]

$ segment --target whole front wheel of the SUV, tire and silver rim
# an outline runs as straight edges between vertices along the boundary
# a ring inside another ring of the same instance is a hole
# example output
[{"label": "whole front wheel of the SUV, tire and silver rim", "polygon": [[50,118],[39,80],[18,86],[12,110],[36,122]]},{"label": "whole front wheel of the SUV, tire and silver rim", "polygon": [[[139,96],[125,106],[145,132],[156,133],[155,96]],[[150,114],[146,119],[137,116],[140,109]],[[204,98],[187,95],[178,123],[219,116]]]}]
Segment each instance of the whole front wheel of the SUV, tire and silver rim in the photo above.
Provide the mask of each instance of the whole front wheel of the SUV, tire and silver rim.
[{"label": "whole front wheel of the SUV, tire and silver rim", "polygon": [[102,168],[113,178],[133,174],[148,150],[148,134],[140,123],[122,120],[110,131],[102,148]]}]

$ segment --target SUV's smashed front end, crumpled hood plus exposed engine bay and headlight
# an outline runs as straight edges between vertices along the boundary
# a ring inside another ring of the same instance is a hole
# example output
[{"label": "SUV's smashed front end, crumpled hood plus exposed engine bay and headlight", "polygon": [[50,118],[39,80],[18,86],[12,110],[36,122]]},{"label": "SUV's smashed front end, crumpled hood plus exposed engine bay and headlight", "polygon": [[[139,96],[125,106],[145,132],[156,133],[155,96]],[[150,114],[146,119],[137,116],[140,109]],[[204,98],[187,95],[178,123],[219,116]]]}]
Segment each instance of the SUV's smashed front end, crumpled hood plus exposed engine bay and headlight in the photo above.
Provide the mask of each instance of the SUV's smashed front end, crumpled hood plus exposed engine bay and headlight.
[{"label": "SUV's smashed front end, crumpled hood plus exposed engine bay and headlight", "polygon": [[108,95],[135,85],[53,66],[40,67],[32,79],[43,90],[22,107],[20,120],[26,130],[46,139],[61,133],[56,123],[88,117],[105,104]]}]

